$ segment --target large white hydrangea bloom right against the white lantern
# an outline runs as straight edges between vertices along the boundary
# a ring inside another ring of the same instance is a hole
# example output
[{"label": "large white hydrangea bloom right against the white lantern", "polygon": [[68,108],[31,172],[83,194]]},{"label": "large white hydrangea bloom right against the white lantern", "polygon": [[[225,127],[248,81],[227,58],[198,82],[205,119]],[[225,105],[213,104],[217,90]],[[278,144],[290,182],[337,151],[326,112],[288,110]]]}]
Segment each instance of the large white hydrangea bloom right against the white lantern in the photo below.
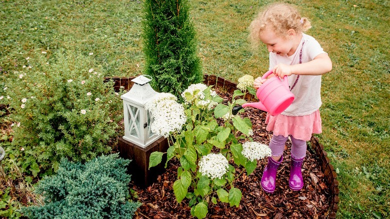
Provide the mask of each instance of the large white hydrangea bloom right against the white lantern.
[{"label": "large white hydrangea bloom right against the white lantern", "polygon": [[167,137],[171,132],[181,131],[187,117],[184,106],[176,100],[176,96],[171,93],[158,93],[146,102],[145,109],[149,110],[154,118],[150,125],[153,133]]}]

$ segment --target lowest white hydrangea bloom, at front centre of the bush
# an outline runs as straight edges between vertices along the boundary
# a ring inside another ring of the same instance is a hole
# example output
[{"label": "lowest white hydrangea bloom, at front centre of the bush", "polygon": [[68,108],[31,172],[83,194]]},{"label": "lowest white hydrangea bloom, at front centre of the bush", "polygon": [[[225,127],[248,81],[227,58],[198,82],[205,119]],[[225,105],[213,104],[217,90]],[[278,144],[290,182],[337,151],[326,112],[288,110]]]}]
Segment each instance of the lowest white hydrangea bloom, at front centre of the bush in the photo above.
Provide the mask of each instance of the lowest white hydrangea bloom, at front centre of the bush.
[{"label": "lowest white hydrangea bloom, at front centre of the bush", "polygon": [[228,162],[221,153],[209,153],[199,160],[199,172],[211,179],[222,178],[227,172]]}]

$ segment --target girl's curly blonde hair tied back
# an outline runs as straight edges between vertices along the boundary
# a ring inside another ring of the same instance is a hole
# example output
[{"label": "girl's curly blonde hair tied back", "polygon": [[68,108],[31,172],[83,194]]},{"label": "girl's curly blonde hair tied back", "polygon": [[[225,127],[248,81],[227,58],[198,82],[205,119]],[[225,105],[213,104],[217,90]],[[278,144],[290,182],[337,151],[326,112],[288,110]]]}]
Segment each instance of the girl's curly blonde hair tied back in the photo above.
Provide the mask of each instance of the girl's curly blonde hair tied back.
[{"label": "girl's curly blonde hair tied back", "polygon": [[301,17],[294,5],[287,3],[273,3],[261,10],[249,26],[249,40],[253,46],[260,43],[260,35],[270,26],[276,35],[287,37],[287,30],[304,32],[311,28],[307,17]]}]

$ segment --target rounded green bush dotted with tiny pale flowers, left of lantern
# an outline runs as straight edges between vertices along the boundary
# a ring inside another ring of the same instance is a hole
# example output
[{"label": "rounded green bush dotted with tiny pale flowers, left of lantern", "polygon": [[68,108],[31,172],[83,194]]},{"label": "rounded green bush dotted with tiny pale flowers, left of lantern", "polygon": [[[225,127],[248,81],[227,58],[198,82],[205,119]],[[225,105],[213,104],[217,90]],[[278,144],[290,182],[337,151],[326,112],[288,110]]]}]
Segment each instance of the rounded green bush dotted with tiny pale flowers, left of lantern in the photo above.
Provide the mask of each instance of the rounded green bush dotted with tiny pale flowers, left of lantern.
[{"label": "rounded green bush dotted with tiny pale flowers, left of lantern", "polygon": [[109,152],[108,142],[119,129],[121,100],[112,82],[103,83],[92,58],[58,51],[27,62],[8,79],[6,98],[0,100],[13,109],[12,144],[33,157],[35,166],[23,165],[24,170],[32,168],[36,176],[42,168],[55,169],[61,157],[86,161]]}]

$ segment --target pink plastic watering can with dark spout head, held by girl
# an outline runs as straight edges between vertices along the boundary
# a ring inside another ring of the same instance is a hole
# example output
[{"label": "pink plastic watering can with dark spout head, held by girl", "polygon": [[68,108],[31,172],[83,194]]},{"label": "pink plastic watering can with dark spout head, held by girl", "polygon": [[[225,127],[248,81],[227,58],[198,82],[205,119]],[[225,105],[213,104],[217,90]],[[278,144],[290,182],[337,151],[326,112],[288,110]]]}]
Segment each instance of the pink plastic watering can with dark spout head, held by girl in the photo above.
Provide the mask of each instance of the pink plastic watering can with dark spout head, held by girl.
[{"label": "pink plastic watering can with dark spout head, held by girl", "polygon": [[[261,79],[265,79],[272,70],[268,70]],[[269,112],[271,115],[278,115],[286,109],[294,100],[294,94],[291,93],[287,75],[283,77],[283,81],[278,76],[271,77],[257,89],[256,96],[259,102],[248,102],[242,105],[234,106],[232,109],[233,115],[237,114],[238,110],[243,107],[251,106]]]}]

